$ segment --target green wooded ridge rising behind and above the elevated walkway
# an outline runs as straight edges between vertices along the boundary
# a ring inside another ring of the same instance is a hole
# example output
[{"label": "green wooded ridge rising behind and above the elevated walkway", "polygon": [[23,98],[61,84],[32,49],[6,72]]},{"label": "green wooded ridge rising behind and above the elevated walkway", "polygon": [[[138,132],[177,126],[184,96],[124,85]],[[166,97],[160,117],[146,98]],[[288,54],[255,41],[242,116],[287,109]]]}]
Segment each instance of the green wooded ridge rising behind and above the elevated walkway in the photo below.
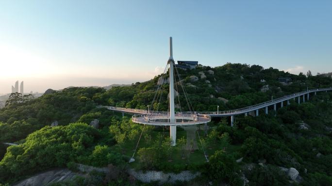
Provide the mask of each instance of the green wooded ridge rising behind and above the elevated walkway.
[{"label": "green wooded ridge rising behind and above the elevated walkway", "polygon": [[[188,71],[178,69],[178,72],[195,111],[215,111],[217,105],[219,105],[219,110],[236,109],[270,100],[272,96],[279,98],[307,88],[332,86],[331,77],[324,75],[308,74],[305,76],[303,73],[294,75],[278,69],[264,69],[258,65],[227,63],[215,68],[199,66],[197,69]],[[193,80],[191,78],[193,76],[198,77],[198,80]],[[292,79],[292,83],[282,84],[278,81],[280,77],[289,77]],[[127,87],[114,87],[98,95],[99,103],[117,107],[147,109],[153,100],[160,78],[161,75],[158,75],[147,82],[137,82]],[[187,111],[186,100],[183,90],[180,88],[178,77],[176,77],[176,81],[178,88],[175,89],[179,92],[180,105],[183,107],[182,110]],[[268,88],[262,90],[264,86]],[[168,109],[166,97],[168,85],[162,85],[161,89],[163,89],[162,95],[164,96],[161,98],[159,110],[166,111]],[[229,100],[229,102],[220,98]],[[178,100],[175,103],[179,104]],[[157,105],[153,106],[157,107]]]}]

